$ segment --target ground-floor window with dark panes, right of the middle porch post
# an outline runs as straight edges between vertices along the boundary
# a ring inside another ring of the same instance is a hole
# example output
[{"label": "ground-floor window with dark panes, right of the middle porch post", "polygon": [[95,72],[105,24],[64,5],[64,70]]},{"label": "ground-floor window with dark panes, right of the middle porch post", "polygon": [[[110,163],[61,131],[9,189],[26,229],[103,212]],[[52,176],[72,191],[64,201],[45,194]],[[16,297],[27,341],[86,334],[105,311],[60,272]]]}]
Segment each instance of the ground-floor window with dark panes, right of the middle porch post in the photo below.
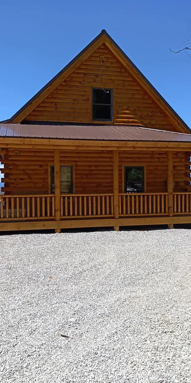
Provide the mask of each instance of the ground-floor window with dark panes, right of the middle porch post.
[{"label": "ground-floor window with dark panes, right of the middle porch post", "polygon": [[125,193],[144,192],[144,166],[125,166]]}]

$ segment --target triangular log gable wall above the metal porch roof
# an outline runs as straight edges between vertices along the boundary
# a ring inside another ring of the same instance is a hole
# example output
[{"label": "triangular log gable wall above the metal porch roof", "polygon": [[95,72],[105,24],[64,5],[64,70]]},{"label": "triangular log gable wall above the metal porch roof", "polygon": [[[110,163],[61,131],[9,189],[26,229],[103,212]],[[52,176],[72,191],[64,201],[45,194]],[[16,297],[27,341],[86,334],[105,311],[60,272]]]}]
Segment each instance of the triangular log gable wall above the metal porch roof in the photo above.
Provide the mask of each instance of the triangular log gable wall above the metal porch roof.
[{"label": "triangular log gable wall above the metal porch roof", "polygon": [[188,133],[189,128],[102,31],[66,69],[10,119],[93,123],[92,87],[113,89],[113,123]]}]

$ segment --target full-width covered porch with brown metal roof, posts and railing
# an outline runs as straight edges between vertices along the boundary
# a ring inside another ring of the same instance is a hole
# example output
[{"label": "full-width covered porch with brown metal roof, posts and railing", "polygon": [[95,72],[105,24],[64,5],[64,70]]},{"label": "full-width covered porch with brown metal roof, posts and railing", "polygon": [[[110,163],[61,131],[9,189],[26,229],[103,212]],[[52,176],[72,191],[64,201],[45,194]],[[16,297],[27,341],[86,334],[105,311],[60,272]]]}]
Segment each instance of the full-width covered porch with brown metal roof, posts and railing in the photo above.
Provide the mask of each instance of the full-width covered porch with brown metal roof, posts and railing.
[{"label": "full-width covered porch with brown metal roof, posts and railing", "polygon": [[2,231],[191,223],[190,134],[2,124],[0,147]]}]

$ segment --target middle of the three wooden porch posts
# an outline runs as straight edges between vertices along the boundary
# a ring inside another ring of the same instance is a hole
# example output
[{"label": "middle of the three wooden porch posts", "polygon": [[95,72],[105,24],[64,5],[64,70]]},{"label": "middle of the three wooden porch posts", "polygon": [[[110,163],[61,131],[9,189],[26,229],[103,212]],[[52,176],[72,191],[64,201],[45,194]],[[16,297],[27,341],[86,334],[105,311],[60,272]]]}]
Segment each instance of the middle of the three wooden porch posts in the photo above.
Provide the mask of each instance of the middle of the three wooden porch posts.
[{"label": "middle of the three wooden porch posts", "polygon": [[[113,151],[113,201],[114,201],[114,218],[119,218],[119,165],[118,151]],[[119,226],[114,226],[119,231]]]}]

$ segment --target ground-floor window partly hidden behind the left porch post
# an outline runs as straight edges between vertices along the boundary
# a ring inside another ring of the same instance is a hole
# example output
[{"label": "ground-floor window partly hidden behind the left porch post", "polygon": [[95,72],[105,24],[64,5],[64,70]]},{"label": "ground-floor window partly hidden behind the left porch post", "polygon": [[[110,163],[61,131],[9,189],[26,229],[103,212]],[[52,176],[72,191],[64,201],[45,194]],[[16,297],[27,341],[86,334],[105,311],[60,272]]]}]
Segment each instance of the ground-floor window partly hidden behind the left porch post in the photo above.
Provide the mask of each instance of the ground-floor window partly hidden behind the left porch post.
[{"label": "ground-floor window partly hidden behind the left porch post", "polygon": [[[50,193],[55,193],[54,166],[50,167]],[[73,193],[73,166],[60,166],[60,194]]]}]

